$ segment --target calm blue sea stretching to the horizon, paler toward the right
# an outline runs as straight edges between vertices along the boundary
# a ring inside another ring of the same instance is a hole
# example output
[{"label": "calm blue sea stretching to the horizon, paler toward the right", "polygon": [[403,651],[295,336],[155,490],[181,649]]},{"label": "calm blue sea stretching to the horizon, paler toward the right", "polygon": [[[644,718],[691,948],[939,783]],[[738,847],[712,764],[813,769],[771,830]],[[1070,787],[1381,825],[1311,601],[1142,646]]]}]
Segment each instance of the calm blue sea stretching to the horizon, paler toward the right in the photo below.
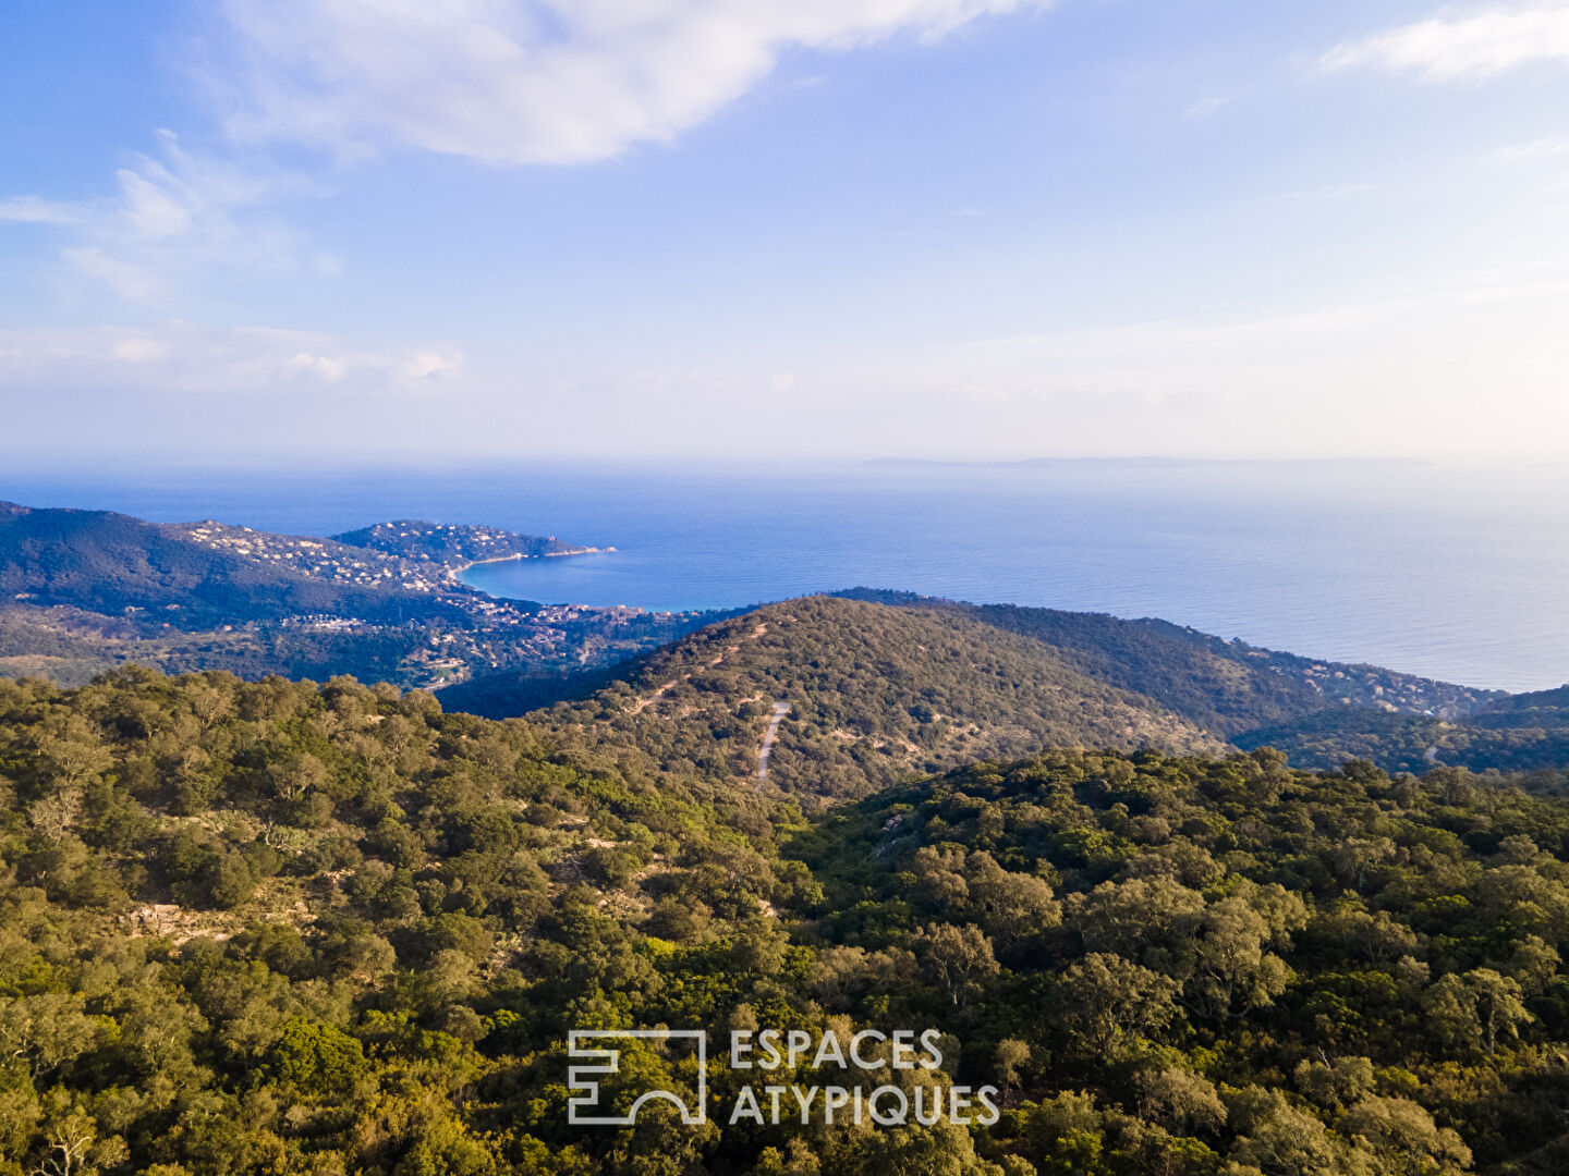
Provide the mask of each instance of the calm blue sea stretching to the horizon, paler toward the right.
[{"label": "calm blue sea stretching to the horizon, paler toward the right", "polygon": [[468,575],[548,602],[712,608],[874,585],[1163,616],[1470,685],[1569,679],[1569,467],[0,472],[0,497],[306,535],[482,522],[617,547]]}]

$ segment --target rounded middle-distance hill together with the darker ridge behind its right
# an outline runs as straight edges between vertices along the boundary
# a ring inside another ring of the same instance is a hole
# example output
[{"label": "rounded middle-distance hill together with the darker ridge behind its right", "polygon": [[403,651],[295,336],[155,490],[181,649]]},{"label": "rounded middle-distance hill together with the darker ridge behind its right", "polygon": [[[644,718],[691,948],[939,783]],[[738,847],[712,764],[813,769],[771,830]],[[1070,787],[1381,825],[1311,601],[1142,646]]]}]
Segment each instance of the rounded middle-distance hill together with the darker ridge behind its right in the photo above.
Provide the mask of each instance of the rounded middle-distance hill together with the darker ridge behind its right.
[{"label": "rounded middle-distance hill together with the darker ridge behind its right", "polygon": [[[1516,713],[1500,691],[1313,662],[1164,621],[869,590],[767,605],[601,677],[592,698],[540,718],[592,728],[601,743],[670,770],[745,778],[784,704],[770,781],[833,797],[1051,746],[1279,745],[1304,767],[1365,757],[1422,771],[1436,762],[1429,734],[1443,731],[1461,734],[1437,762],[1569,762],[1569,742],[1531,731],[1461,739],[1473,729],[1437,717],[1489,715],[1495,702],[1498,715]],[[483,710],[507,698],[504,685],[479,679],[458,698]],[[1517,709],[1522,723],[1555,713]]]}]

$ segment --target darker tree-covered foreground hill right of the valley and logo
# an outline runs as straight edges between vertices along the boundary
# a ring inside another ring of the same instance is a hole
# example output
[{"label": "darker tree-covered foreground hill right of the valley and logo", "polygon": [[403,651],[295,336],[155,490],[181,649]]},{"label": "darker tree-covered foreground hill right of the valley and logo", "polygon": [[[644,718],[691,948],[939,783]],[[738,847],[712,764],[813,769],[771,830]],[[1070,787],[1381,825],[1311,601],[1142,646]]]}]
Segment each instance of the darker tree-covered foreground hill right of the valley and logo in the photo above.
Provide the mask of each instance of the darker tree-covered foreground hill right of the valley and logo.
[{"label": "darker tree-covered foreground hill right of the valley and logo", "polygon": [[879,793],[786,856],[822,887],[795,935],[827,1007],[948,1002],[1032,1171],[1569,1171],[1563,800],[1070,751]]}]

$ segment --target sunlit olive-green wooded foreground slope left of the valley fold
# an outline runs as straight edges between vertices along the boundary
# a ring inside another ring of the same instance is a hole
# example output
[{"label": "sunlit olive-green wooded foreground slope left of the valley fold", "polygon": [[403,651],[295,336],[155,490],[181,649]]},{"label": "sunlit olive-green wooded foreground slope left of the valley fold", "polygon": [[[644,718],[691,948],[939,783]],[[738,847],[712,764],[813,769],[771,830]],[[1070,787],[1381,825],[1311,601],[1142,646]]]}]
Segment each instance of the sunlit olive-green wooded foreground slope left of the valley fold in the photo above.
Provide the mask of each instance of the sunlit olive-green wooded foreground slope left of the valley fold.
[{"label": "sunlit olive-green wooded foreground slope left of the valley fold", "polygon": [[348,679],[0,682],[0,1173],[618,1170],[546,1058],[770,985],[789,817]]}]

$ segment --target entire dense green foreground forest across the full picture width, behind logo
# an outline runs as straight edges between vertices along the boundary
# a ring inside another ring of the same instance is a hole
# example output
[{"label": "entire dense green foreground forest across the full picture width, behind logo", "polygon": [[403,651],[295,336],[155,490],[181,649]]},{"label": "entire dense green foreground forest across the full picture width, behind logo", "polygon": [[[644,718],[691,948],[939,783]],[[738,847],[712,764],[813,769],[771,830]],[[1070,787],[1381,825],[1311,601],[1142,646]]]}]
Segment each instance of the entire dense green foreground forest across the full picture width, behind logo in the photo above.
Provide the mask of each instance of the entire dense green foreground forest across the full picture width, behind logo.
[{"label": "entire dense green foreground forest across the full picture width, behind logo", "polygon": [[[424,691],[0,682],[0,1171],[1558,1173],[1522,784],[1059,750],[803,814]],[[999,1123],[568,1126],[566,1032],[650,1025],[930,1027]]]}]

